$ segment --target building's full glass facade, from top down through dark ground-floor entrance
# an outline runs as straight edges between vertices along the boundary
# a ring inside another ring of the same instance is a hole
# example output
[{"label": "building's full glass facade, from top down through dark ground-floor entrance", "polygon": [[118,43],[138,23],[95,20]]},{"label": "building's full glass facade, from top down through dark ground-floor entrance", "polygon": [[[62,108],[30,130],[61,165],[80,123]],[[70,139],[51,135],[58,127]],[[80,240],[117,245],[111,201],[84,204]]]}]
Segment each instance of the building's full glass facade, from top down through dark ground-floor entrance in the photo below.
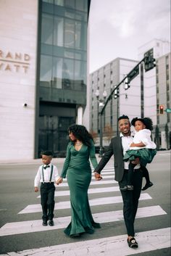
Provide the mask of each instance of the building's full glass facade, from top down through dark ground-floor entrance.
[{"label": "building's full glass facade, from top down through dark ground-floor entrance", "polygon": [[67,128],[86,106],[88,0],[40,0],[38,156],[64,157]]}]

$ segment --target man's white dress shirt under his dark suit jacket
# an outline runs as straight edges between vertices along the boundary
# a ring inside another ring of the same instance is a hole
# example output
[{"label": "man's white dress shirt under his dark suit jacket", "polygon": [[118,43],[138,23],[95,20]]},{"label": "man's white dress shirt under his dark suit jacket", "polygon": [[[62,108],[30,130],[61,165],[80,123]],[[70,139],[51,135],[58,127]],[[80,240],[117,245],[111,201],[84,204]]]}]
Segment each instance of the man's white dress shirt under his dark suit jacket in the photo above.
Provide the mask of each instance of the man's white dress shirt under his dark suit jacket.
[{"label": "man's white dress shirt under his dark suit jacket", "polygon": [[[123,155],[125,155],[125,152],[130,149],[130,144],[133,142],[133,136],[132,135],[131,136],[123,136],[123,134],[120,133],[120,137],[122,139]],[[124,169],[126,169],[126,170],[129,169],[129,166],[128,166],[129,163],[130,163],[130,161],[128,161],[128,162],[124,161]],[[138,169],[138,168],[140,168],[140,164],[135,165],[134,169]]]}]

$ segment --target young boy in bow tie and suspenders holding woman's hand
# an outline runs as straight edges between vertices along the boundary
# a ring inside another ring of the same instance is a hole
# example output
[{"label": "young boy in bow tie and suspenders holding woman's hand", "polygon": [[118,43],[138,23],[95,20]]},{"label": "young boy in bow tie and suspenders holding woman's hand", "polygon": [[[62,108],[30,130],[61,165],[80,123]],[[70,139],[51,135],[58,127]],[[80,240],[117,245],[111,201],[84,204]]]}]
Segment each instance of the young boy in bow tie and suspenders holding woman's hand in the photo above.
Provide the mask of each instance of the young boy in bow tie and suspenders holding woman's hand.
[{"label": "young boy in bow tie and suspenders holding woman's hand", "polygon": [[35,192],[38,192],[38,184],[41,182],[41,207],[43,210],[42,225],[47,226],[49,220],[49,226],[54,226],[54,182],[57,182],[59,174],[57,167],[51,165],[52,152],[42,152],[41,158],[43,165],[38,168],[38,173],[35,177]]}]

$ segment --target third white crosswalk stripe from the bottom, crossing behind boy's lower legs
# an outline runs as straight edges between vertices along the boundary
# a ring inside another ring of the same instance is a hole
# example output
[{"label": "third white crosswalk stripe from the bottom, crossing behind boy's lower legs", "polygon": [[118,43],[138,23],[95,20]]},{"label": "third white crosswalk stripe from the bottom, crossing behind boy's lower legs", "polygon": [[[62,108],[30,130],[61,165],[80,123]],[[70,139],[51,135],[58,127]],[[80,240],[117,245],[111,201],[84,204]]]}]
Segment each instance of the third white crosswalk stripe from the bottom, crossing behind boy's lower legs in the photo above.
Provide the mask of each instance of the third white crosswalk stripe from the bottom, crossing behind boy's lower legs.
[{"label": "third white crosswalk stripe from the bottom, crossing behind boy's lower legs", "polygon": [[[146,199],[151,199],[149,194],[141,194],[140,200],[146,200]],[[95,205],[109,205],[109,204],[116,204],[122,202],[122,197],[101,197],[97,199],[90,199],[89,204],[91,206]],[[64,202],[57,202],[54,205],[54,210],[61,210],[61,209],[69,209],[70,208],[70,201],[64,201]],[[30,212],[41,212],[41,205],[28,205],[25,207],[25,209],[21,210],[18,212],[18,214],[22,213],[30,213]]]}]

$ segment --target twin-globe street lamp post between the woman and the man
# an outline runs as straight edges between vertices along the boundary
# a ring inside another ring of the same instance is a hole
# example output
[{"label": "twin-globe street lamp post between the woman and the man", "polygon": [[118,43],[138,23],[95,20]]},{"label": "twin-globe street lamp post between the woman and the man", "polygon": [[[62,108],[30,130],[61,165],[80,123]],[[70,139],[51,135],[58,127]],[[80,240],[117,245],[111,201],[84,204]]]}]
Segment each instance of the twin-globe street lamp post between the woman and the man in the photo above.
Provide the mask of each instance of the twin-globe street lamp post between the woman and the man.
[{"label": "twin-globe street lamp post between the woman and the man", "polygon": [[[99,157],[102,157],[103,155],[103,113],[101,110],[104,107],[105,99],[107,98],[107,91],[103,92],[103,99],[99,99],[99,90],[96,90],[95,92],[97,102],[99,104],[99,112],[98,115],[100,116],[100,150],[99,150]],[[98,122],[97,122],[98,123]]]}]

